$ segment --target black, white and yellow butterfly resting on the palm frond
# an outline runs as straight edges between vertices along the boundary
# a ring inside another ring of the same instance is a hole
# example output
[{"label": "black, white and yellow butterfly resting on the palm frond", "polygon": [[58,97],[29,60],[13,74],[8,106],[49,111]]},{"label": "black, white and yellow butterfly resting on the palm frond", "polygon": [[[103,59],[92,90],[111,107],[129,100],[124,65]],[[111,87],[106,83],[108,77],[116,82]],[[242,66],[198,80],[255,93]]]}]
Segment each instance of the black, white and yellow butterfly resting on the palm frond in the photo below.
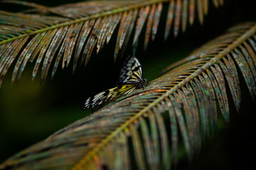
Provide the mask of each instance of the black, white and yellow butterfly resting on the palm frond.
[{"label": "black, white and yellow butterfly resting on the palm frond", "polygon": [[136,57],[128,57],[124,61],[120,71],[117,87],[104,90],[93,97],[88,97],[81,105],[81,109],[99,108],[118,97],[129,94],[134,90],[144,88],[147,85],[148,81],[146,78],[143,78],[142,67],[139,60]]}]

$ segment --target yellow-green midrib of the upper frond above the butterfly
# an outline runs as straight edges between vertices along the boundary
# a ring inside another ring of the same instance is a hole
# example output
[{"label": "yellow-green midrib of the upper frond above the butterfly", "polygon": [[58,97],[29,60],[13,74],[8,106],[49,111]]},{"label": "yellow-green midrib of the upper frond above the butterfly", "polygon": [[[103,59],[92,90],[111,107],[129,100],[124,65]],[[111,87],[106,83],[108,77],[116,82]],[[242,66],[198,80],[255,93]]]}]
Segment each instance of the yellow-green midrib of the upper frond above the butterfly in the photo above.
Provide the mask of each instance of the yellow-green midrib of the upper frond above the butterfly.
[{"label": "yellow-green midrib of the upper frond above the butterfly", "polygon": [[114,10],[103,11],[101,13],[90,15],[88,17],[82,17],[82,18],[78,18],[78,19],[75,19],[75,20],[70,20],[70,21],[67,21],[67,22],[63,22],[61,24],[55,24],[55,25],[52,25],[50,27],[46,27],[44,29],[38,29],[36,31],[31,31],[29,33],[22,34],[20,36],[15,36],[13,38],[9,38],[9,39],[6,39],[4,41],[0,41],[0,45],[3,45],[4,43],[8,43],[10,41],[14,41],[16,39],[25,38],[27,36],[32,36],[32,35],[35,35],[35,34],[38,34],[38,33],[41,33],[41,32],[49,31],[49,30],[52,30],[52,29],[60,28],[60,27],[65,27],[67,25],[77,24],[79,22],[84,22],[86,20],[91,20],[91,19],[94,19],[94,18],[105,17],[105,16],[108,16],[108,15],[113,15],[115,13],[122,13],[124,11],[129,11],[129,10],[133,10],[133,9],[136,9],[136,8],[141,8],[143,6],[147,6],[147,5],[150,5],[150,4],[164,3],[164,2],[168,2],[168,0],[147,0],[147,1],[141,1],[141,3],[138,3],[138,4],[132,4],[132,5],[124,6],[124,7],[121,7],[121,8],[114,9]]}]

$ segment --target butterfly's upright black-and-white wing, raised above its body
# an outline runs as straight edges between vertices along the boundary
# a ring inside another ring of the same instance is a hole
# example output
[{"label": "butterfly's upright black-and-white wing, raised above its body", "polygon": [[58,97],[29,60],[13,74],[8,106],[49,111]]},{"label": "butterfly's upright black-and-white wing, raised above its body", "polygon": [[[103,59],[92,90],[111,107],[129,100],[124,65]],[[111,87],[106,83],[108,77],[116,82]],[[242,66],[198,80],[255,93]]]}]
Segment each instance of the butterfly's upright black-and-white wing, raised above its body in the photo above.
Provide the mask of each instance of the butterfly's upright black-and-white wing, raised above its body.
[{"label": "butterfly's upright black-and-white wing, raised above its body", "polygon": [[120,71],[118,85],[125,83],[138,83],[142,78],[142,68],[139,60],[136,57],[129,57],[125,60]]}]

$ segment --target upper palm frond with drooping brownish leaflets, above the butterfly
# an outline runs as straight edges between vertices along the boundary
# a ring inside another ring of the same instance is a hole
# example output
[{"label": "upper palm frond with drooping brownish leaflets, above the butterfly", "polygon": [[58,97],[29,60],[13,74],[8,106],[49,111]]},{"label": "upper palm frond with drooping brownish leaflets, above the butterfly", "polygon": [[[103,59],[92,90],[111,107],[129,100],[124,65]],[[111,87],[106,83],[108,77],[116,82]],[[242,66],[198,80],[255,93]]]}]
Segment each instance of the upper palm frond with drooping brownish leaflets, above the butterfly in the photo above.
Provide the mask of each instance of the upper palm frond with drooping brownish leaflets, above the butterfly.
[{"label": "upper palm frond with drooping brownish leaflets, above the butterfly", "polygon": [[[114,59],[126,46],[135,27],[134,49],[144,25],[144,46],[150,38],[154,40],[159,25],[163,5],[169,4],[164,38],[168,38],[172,22],[174,35],[179,32],[180,22],[185,31],[188,22],[193,24],[195,8],[202,24],[208,11],[208,0],[143,0],[143,1],[86,1],[64,4],[49,8],[24,1],[3,1],[33,7],[20,13],[0,11],[0,87],[8,69],[16,61],[12,73],[12,83],[20,80],[28,62],[35,61],[32,80],[42,65],[41,82],[45,81],[50,67],[51,78],[61,63],[62,69],[70,64],[73,57],[73,73],[77,62],[85,65],[95,47],[97,53],[108,43],[117,27],[118,36]],[[169,2],[169,3],[168,3]],[[223,1],[214,0],[216,7]],[[188,12],[189,11],[189,12]],[[31,14],[37,13],[37,14]],[[135,50],[134,50],[135,51]],[[54,61],[55,60],[55,61]],[[62,60],[62,61],[61,61]]]}]

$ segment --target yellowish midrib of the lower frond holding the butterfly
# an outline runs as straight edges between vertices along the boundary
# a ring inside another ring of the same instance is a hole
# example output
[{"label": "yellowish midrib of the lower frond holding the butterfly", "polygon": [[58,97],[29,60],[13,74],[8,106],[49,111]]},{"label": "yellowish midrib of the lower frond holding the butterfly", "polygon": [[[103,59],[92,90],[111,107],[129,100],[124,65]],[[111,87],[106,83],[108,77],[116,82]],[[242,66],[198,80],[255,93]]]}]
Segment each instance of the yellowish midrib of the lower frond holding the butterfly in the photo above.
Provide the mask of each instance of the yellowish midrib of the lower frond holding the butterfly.
[{"label": "yellowish midrib of the lower frond holding the butterfly", "polygon": [[139,113],[134,115],[134,117],[131,117],[124,124],[122,124],[120,127],[118,127],[118,129],[116,129],[116,131],[114,131],[111,134],[109,134],[109,136],[107,136],[106,139],[103,139],[102,142],[99,143],[99,145],[97,145],[95,148],[93,148],[92,151],[90,151],[83,159],[81,159],[79,161],[79,163],[77,163],[74,166],[74,169],[77,169],[77,167],[79,167],[80,164],[84,164],[84,162],[89,161],[90,159],[92,159],[93,156],[97,155],[97,153],[100,151],[100,149],[102,149],[106,144],[108,144],[109,141],[111,141],[111,139],[113,139],[119,132],[122,132],[125,129],[127,129],[129,127],[129,125],[131,125],[133,122],[138,120],[138,118],[140,118],[148,110],[150,110],[151,108],[156,106],[158,103],[160,103],[164,98],[170,96],[173,92],[178,90],[180,87],[183,87],[184,85],[186,85],[186,83],[188,83],[189,81],[193,80],[193,78],[196,78],[196,76],[198,76],[199,74],[204,72],[206,69],[211,67],[213,64],[218,63],[219,60],[221,60],[225,55],[227,55],[229,52],[234,50],[234,48],[236,48],[238,45],[243,43],[246,39],[250,38],[250,36],[252,36],[252,34],[255,33],[255,32],[256,32],[256,24],[254,26],[252,26],[251,29],[249,29],[248,31],[244,32],[243,35],[239,36],[239,38],[237,38],[232,44],[228,45],[224,50],[222,50],[220,53],[218,53],[218,55],[216,55],[211,60],[209,60],[207,63],[205,63],[204,66],[200,67],[194,73],[189,75],[187,78],[185,78],[184,80],[180,81],[180,83],[175,85],[172,89],[170,89],[167,92],[165,92],[158,99],[155,99],[154,102],[150,103],[148,106],[143,108],[143,110],[141,110]]}]

